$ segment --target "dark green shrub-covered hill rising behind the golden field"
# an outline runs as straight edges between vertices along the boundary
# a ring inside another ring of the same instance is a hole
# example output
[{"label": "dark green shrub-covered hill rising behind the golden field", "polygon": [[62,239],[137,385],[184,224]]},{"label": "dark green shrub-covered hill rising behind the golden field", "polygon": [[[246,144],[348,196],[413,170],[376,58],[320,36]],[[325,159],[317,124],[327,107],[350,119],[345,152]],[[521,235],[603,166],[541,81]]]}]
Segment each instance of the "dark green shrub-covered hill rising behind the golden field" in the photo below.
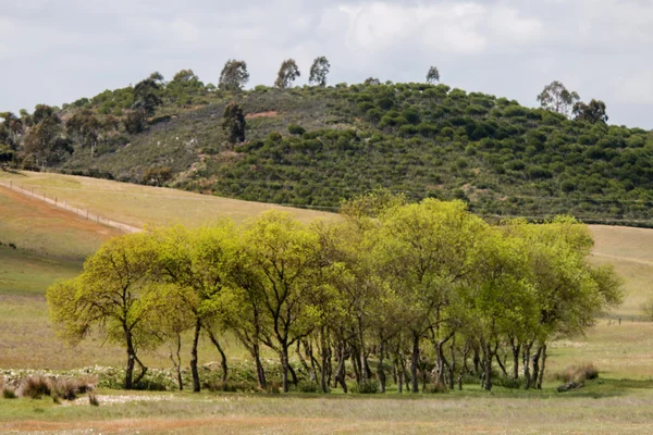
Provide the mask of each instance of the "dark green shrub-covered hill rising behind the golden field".
[{"label": "dark green shrub-covered hill rising behind the golden field", "polygon": [[[653,134],[643,129],[569,120],[446,85],[369,82],[230,92],[186,77],[161,85],[158,96],[161,104],[139,133],[130,133],[131,87],[64,104],[54,111],[63,129],[48,164],[324,210],[386,187],[416,200],[461,198],[483,215],[569,213],[588,222],[653,223]],[[246,141],[237,145],[221,128],[232,100],[247,122]],[[23,142],[34,128],[28,123],[38,125],[44,113],[24,116]],[[91,114],[102,133],[89,146],[71,120]],[[15,148],[24,163],[38,160]]]}]

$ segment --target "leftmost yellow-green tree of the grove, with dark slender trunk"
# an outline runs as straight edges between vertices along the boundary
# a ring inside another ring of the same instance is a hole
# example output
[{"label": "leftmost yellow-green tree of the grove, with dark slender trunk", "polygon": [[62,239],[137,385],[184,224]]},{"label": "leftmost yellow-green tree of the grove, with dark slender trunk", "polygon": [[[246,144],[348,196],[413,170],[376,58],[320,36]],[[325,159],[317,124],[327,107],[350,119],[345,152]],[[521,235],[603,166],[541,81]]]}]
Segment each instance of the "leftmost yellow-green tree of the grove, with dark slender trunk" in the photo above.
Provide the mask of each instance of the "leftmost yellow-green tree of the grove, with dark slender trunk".
[{"label": "leftmost yellow-green tree of the grove, with dark slender trunk", "polygon": [[[156,291],[151,282],[156,256],[147,234],[114,238],[84,263],[82,275],[50,286],[46,294],[50,319],[62,338],[77,344],[95,326],[106,339],[125,347],[126,389],[147,372],[138,351],[157,343],[147,320],[164,299],[146,298]],[[134,380],[136,363],[140,374]]]}]

